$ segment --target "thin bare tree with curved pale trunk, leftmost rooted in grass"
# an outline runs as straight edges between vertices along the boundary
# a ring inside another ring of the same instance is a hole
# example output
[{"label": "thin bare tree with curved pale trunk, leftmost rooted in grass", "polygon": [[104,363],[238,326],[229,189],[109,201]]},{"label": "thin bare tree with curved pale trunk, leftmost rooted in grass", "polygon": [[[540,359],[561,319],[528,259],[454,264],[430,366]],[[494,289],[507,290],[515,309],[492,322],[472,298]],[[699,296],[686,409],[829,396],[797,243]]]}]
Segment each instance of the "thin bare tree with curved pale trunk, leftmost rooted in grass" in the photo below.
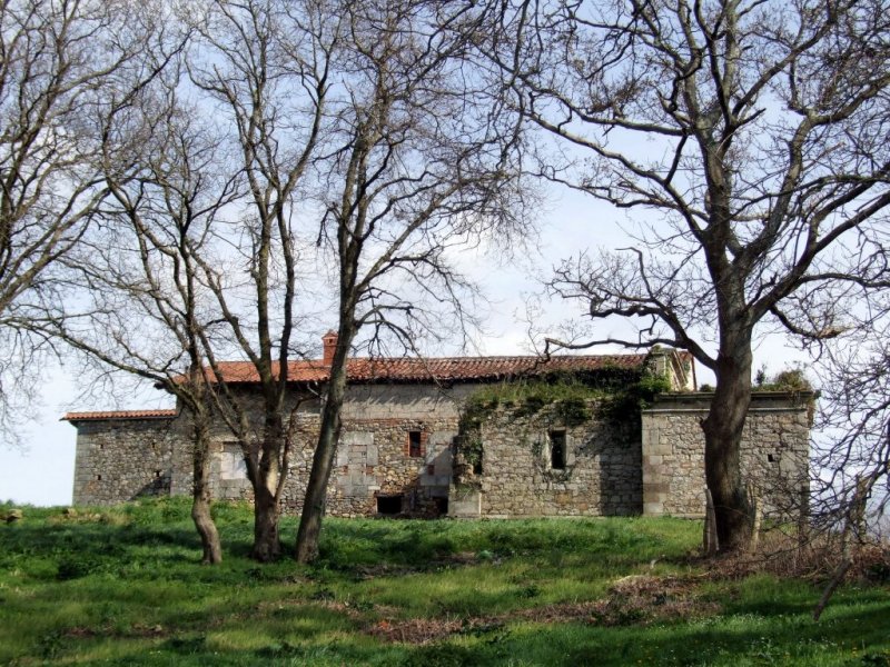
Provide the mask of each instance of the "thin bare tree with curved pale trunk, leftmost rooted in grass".
[{"label": "thin bare tree with curved pale trunk, leftmost rooted in grass", "polygon": [[178,73],[165,78],[108,117],[102,162],[110,195],[69,262],[80,291],[39,326],[100,367],[177,398],[190,429],[191,516],[202,561],[217,564],[222,550],[210,515],[209,461],[224,399],[205,360],[218,313],[197,258],[207,260],[220,212],[240,193],[237,172],[219,169],[226,160],[212,127],[178,100]]}]

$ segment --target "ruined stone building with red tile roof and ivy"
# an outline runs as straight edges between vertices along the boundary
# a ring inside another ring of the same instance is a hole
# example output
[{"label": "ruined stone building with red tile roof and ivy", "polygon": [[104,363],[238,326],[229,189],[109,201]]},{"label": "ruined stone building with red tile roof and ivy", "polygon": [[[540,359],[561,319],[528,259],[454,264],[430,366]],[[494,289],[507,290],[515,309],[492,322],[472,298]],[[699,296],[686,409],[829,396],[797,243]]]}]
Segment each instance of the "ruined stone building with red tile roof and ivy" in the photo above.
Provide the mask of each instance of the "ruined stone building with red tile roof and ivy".
[{"label": "ruined stone building with red tile roof and ivy", "polygon": [[[295,397],[324,389],[336,336],[323,340],[322,359],[291,362]],[[249,364],[224,364],[220,372],[230,387],[256,392]],[[703,514],[700,419],[710,396],[695,391],[685,352],[354,358],[348,377],[329,515]],[[811,399],[754,397],[743,467],[768,510],[805,482]],[[65,419],[77,428],[76,505],[191,492],[187,418],[178,410]],[[303,400],[295,419],[285,511],[303,501],[320,401]],[[212,456],[216,497],[249,499],[241,451],[221,424]]]}]

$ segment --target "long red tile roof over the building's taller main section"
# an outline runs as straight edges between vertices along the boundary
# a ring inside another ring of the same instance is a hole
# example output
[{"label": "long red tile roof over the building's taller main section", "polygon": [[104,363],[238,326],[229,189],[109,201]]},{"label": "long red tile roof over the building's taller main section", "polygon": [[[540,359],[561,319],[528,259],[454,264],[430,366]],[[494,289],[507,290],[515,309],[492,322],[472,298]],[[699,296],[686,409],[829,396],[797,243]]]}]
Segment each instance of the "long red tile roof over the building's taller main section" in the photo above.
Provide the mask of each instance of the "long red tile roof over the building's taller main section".
[{"label": "long red tile roof over the building's taller main section", "polygon": [[[492,381],[560,371],[642,369],[645,358],[645,355],[561,355],[547,360],[538,357],[356,358],[349,359],[347,374],[352,382]],[[224,361],[218,368],[230,384],[258,380],[256,368],[249,361]],[[324,382],[329,371],[320,360],[300,360],[288,364],[287,375],[294,382]]]}]

